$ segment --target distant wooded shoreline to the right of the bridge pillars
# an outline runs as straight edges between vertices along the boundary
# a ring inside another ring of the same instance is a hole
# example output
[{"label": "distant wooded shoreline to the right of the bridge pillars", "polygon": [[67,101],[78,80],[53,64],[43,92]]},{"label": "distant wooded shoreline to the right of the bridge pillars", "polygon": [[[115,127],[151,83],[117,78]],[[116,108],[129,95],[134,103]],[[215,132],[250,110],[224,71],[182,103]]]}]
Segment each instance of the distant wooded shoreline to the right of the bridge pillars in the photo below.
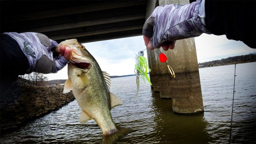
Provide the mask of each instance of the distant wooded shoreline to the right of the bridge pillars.
[{"label": "distant wooded shoreline to the right of the bridge pillars", "polygon": [[233,56],[228,58],[223,58],[221,60],[212,60],[208,62],[198,63],[199,68],[203,67],[211,67],[211,66],[221,66],[221,65],[228,65],[235,63],[248,63],[248,62],[255,62],[256,61],[256,52],[250,53],[247,55],[240,55],[240,56]]}]

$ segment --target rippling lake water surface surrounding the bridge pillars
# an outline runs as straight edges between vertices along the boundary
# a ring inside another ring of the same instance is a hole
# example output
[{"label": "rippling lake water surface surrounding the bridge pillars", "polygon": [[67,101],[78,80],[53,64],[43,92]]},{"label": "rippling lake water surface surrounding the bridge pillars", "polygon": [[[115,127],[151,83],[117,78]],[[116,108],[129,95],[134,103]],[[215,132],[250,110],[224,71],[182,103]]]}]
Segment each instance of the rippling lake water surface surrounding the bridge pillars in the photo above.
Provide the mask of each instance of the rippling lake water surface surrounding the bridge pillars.
[{"label": "rippling lake water surface surrounding the bridge pillars", "polygon": [[[256,63],[236,66],[232,143],[256,143]],[[205,112],[177,115],[171,99],[160,99],[141,82],[137,99],[135,76],[113,78],[111,92],[124,105],[111,110],[114,122],[137,131],[117,143],[228,143],[233,97],[234,65],[199,69]],[[82,144],[101,143],[94,120],[80,124],[76,101],[27,123],[15,132],[1,134],[0,142]]]}]

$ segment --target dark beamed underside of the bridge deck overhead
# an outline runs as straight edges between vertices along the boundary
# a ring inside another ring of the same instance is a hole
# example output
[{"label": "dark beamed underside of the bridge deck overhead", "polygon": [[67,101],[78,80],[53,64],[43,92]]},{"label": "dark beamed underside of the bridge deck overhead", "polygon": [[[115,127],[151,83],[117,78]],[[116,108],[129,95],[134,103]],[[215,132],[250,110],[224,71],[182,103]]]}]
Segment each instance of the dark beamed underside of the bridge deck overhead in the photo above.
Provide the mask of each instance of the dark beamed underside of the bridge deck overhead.
[{"label": "dark beamed underside of the bridge deck overhead", "polygon": [[[15,3],[15,4],[14,4]],[[80,43],[142,35],[147,1],[1,1],[1,33]]]}]

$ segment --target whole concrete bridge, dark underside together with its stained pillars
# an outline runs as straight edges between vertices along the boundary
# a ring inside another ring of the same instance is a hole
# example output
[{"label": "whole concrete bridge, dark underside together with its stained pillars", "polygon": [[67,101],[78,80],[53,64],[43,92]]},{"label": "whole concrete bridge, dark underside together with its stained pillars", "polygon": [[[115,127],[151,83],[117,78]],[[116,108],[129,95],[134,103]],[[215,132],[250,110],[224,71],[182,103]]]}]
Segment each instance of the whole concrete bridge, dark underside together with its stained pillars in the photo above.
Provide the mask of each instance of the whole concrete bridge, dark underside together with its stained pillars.
[{"label": "whole concrete bridge, dark underside together with its stained pillars", "polygon": [[[156,6],[193,1],[0,1],[0,32],[38,32],[58,43],[73,38],[87,43],[139,36]],[[194,39],[178,40],[174,50],[166,51],[176,79],[168,78],[168,68],[158,60],[159,49],[147,53],[153,90],[161,98],[172,98],[174,112],[203,112]]]}]

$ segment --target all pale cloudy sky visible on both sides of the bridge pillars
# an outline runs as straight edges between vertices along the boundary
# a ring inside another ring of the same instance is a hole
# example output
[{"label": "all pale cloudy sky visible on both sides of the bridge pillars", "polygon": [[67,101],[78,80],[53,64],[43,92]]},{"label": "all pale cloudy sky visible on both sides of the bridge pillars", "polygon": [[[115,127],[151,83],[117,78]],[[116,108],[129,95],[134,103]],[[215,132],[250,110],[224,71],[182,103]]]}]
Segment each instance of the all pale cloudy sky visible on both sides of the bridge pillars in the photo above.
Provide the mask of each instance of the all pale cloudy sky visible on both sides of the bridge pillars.
[{"label": "all pale cloudy sky visible on both sides of the bridge pillars", "polygon": [[[256,52],[256,49],[248,47],[241,41],[228,40],[225,35],[202,34],[195,37],[195,44],[198,63]],[[134,74],[135,54],[146,48],[142,36],[83,43],[83,45],[97,60],[101,70],[111,76]],[[147,58],[146,50],[144,56]],[[67,66],[55,74],[45,74],[45,76],[48,80],[68,79]]]}]

